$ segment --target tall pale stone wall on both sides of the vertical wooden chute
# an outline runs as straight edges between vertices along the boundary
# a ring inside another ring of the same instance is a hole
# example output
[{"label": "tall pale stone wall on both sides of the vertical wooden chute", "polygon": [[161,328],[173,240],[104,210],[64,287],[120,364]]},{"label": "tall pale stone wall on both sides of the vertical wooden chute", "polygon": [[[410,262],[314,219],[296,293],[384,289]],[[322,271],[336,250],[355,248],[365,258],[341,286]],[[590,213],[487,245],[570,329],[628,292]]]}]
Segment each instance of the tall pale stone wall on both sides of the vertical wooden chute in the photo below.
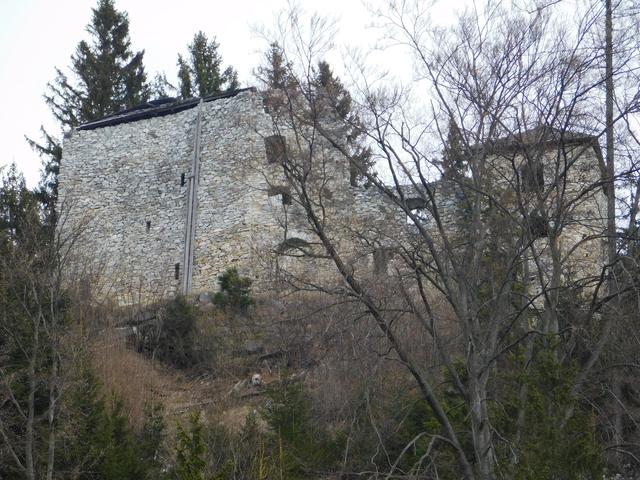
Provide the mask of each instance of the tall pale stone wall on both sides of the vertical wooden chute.
[{"label": "tall pale stone wall on both sides of the vertical wooden chute", "polygon": [[[271,191],[285,183],[281,167],[266,156],[272,120],[253,91],[201,108],[192,291],[217,290],[218,275],[232,266],[252,277],[256,289],[267,289],[285,222],[288,237],[310,238],[300,207],[283,205],[282,196]],[[78,130],[65,142],[61,232],[77,232],[73,274],[86,278],[100,296],[137,303],[181,290],[197,115],[194,107]],[[356,205],[346,165],[331,162],[330,210],[350,221],[349,212],[367,207]],[[313,263],[301,265],[317,275],[319,265]]]}]

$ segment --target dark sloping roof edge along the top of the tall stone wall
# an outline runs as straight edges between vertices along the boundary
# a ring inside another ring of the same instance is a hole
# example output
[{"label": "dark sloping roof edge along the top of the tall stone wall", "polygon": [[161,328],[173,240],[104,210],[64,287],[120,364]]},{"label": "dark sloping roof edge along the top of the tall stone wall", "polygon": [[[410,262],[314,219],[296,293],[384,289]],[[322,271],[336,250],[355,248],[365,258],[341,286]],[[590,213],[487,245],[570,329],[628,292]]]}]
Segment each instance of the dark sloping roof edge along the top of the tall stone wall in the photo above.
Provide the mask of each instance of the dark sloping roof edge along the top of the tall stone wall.
[{"label": "dark sloping roof edge along the top of the tall stone wall", "polygon": [[[202,101],[204,103],[213,102],[214,100],[235,97],[236,95],[247,91],[255,92],[257,90],[255,87],[239,88],[237,90],[219,93],[216,95],[208,95],[203,97]],[[173,113],[182,112],[183,110],[195,107],[200,103],[200,100],[200,98],[188,98],[186,100],[161,105],[143,104],[127,110],[121,110],[120,112],[101,118],[100,120],[84,123],[78,126],[76,130],[95,130],[97,128],[119,125],[121,123],[137,122],[138,120],[171,115]],[[149,107],[145,108],[145,105],[149,105]]]}]

